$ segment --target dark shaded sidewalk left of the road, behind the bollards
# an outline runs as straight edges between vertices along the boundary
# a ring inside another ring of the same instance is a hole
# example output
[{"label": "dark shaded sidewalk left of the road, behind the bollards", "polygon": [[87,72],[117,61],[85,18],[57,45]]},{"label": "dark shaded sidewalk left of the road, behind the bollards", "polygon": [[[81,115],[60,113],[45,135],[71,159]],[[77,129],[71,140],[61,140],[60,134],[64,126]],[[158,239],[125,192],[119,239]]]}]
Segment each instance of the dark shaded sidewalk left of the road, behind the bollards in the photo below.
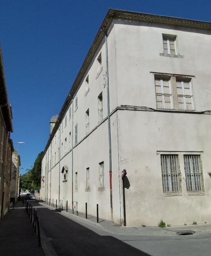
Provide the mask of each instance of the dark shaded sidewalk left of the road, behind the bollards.
[{"label": "dark shaded sidewalk left of the road, behind the bollards", "polygon": [[0,220],[1,256],[44,256],[22,201]]}]

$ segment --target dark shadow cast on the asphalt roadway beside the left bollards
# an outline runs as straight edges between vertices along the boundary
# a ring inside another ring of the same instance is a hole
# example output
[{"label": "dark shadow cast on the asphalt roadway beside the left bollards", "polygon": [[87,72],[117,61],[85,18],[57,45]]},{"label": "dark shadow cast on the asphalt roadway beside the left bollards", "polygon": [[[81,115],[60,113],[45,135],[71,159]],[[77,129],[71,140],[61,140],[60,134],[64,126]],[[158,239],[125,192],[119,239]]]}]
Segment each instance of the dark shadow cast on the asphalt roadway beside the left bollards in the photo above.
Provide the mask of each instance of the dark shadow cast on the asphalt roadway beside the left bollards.
[{"label": "dark shadow cast on the asphalt roadway beside the left bollards", "polygon": [[[33,202],[33,206],[40,204]],[[58,255],[150,256],[113,236],[100,236],[56,211],[38,207],[40,225]]]}]

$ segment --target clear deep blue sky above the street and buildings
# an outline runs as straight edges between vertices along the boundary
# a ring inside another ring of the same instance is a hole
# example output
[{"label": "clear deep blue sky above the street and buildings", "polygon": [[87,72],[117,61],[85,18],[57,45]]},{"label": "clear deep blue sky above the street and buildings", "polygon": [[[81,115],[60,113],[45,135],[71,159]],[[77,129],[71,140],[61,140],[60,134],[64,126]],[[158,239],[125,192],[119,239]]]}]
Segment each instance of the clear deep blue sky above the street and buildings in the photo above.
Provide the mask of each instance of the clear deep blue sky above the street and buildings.
[{"label": "clear deep blue sky above the street and buildings", "polygon": [[21,173],[33,166],[109,8],[211,22],[211,1],[0,0],[0,43]]}]

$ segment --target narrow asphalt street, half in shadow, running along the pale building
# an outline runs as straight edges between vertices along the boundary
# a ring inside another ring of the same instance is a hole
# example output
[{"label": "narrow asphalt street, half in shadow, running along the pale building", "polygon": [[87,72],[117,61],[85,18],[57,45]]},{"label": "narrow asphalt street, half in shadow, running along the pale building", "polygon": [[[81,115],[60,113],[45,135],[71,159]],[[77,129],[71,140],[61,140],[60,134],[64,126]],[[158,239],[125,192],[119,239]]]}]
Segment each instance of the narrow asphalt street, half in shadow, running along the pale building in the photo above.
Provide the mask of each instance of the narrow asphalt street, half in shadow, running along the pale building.
[{"label": "narrow asphalt street, half in shadow, running along the pale building", "polygon": [[[32,201],[31,201],[32,202]],[[210,256],[210,224],[139,228],[100,224],[32,202],[38,209],[40,225],[58,256]],[[181,228],[196,230],[191,236],[177,236]]]}]

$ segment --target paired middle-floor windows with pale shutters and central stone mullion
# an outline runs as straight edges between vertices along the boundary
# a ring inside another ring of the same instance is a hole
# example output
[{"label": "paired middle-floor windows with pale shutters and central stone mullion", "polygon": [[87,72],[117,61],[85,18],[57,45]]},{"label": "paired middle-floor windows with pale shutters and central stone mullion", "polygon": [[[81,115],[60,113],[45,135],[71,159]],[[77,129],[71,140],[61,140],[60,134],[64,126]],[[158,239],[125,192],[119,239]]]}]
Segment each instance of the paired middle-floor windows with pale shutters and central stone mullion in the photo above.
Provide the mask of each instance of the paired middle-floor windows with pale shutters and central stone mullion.
[{"label": "paired middle-floor windows with pale shutters and central stone mullion", "polygon": [[155,74],[157,109],[194,110],[191,77]]}]

